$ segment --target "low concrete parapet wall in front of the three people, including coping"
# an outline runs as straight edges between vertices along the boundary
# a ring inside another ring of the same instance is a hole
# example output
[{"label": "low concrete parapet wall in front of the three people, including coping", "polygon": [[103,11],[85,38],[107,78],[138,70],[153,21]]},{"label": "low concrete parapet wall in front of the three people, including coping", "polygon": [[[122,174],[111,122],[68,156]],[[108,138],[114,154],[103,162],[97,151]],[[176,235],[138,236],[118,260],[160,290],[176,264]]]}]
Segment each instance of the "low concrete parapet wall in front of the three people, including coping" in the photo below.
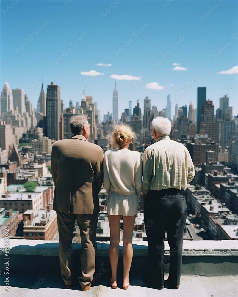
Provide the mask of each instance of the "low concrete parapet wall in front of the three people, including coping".
[{"label": "low concrete parapet wall in front of the three people, including coping", "polygon": [[[9,256],[5,256],[4,239],[0,239],[1,273],[4,271],[4,258],[9,258],[9,272],[23,273],[48,271],[59,273],[59,242],[38,240],[9,240]],[[81,244],[72,244],[65,255],[74,254],[75,263],[80,267]],[[104,267],[110,271],[109,242],[97,242],[97,269]],[[123,243],[119,246],[118,269],[122,269]],[[183,274],[193,275],[238,275],[238,241],[184,241]],[[169,245],[165,241],[164,270],[169,268]],[[131,272],[143,273],[148,269],[147,241],[133,242],[133,261]]]}]

